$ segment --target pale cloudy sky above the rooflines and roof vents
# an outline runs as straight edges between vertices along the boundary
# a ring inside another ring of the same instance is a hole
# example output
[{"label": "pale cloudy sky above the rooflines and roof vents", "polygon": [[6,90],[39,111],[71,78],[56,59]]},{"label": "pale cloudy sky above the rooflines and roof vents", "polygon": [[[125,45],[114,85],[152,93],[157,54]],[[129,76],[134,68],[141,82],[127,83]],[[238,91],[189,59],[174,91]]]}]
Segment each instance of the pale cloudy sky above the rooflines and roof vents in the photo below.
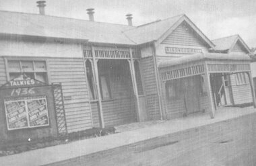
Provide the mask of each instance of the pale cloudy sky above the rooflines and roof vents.
[{"label": "pale cloudy sky above the rooflines and roof vents", "polygon": [[[249,47],[256,47],[255,0],[46,0],[46,15],[88,19],[94,8],[97,22],[133,25],[185,13],[210,40],[239,34]],[[0,10],[38,13],[36,0],[0,0]]]}]

